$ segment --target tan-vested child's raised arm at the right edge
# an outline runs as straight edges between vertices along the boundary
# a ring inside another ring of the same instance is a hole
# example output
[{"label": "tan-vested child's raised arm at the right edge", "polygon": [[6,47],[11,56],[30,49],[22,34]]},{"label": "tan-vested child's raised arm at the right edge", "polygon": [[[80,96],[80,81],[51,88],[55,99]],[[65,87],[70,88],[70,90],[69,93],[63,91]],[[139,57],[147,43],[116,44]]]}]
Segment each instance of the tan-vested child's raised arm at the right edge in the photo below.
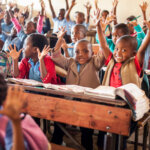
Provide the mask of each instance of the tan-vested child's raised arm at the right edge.
[{"label": "tan-vested child's raised arm at the right edge", "polygon": [[148,31],[147,31],[147,34],[146,34],[144,40],[143,40],[142,45],[140,46],[140,48],[137,52],[137,58],[138,58],[139,64],[141,66],[143,65],[143,62],[144,62],[144,56],[145,56],[146,48],[150,42],[150,22],[145,22],[145,23],[148,27]]}]

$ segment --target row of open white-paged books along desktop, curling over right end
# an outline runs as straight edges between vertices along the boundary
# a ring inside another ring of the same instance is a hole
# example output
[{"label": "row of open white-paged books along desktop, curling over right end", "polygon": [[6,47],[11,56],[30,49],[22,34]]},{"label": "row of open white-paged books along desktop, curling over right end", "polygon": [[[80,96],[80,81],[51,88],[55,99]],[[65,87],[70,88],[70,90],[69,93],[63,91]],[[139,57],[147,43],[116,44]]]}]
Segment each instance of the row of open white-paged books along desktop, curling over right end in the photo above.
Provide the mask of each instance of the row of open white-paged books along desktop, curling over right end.
[{"label": "row of open white-paged books along desktop, curling over right end", "polygon": [[141,119],[146,112],[149,111],[149,99],[146,97],[145,92],[138,88],[135,84],[126,84],[119,88],[110,86],[99,86],[95,89],[82,87],[78,85],[54,85],[44,84],[30,79],[16,79],[8,78],[8,82],[22,84],[25,86],[44,87],[56,91],[63,91],[74,94],[84,94],[86,96],[93,96],[102,99],[116,99],[117,96],[121,97],[129,105],[133,112],[133,120]]}]

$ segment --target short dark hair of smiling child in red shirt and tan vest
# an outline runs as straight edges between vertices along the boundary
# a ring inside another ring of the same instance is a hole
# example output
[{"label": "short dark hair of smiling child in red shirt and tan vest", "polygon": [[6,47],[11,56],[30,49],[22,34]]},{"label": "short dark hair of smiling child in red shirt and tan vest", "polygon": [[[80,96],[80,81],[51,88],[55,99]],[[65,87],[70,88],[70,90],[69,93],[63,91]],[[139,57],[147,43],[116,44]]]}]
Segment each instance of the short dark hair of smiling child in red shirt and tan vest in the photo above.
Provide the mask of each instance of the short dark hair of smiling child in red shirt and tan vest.
[{"label": "short dark hair of smiling child in red shirt and tan vest", "polygon": [[137,40],[136,40],[135,37],[132,37],[132,36],[130,36],[130,35],[124,35],[124,36],[121,36],[121,37],[117,40],[117,43],[120,42],[120,41],[129,44],[129,46],[131,47],[131,49],[132,49],[133,51],[136,51],[138,43],[137,43]]}]

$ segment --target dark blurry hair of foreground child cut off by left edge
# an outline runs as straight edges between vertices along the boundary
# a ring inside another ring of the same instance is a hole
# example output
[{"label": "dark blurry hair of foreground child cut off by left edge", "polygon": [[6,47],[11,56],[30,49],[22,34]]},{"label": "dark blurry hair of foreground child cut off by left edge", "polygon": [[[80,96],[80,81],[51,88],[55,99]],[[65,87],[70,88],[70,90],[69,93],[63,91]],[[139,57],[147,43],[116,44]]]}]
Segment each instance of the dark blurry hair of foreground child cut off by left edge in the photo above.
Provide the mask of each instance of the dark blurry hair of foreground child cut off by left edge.
[{"label": "dark blurry hair of foreground child cut off by left edge", "polygon": [[4,100],[6,99],[7,95],[7,83],[4,80],[4,76],[0,74],[0,106],[3,104]]}]

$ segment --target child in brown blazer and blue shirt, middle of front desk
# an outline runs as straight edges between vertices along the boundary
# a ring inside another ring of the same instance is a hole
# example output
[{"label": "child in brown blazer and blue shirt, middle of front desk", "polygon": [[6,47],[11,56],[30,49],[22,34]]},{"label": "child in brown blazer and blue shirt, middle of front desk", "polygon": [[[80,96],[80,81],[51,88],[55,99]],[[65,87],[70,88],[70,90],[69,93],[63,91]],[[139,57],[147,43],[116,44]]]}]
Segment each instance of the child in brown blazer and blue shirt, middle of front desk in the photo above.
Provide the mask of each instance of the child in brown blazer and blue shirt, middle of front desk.
[{"label": "child in brown blazer and blue shirt, middle of front desk", "polygon": [[[57,46],[61,47],[61,38]],[[103,56],[93,55],[92,44],[87,40],[79,40],[74,46],[75,57],[66,58],[60,51],[52,54],[53,61],[67,70],[66,84],[75,84],[84,87],[96,88],[100,84],[99,69],[103,65]],[[81,143],[86,150],[93,149],[93,130],[81,128]]]}]

